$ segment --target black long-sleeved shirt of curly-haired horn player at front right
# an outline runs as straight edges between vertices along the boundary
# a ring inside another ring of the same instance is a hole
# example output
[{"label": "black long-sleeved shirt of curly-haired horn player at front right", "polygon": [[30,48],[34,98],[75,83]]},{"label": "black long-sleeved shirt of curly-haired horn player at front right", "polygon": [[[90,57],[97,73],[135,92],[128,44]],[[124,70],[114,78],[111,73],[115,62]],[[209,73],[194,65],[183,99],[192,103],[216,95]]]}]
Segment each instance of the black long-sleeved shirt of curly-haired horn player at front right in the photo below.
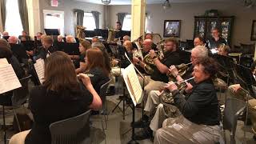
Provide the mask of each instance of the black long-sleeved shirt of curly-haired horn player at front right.
[{"label": "black long-sleeved shirt of curly-haired horn player at front right", "polygon": [[191,122],[209,126],[219,124],[221,114],[212,80],[205,80],[194,85],[192,93],[186,97],[179,94],[178,90],[174,90],[172,93],[178,110]]}]

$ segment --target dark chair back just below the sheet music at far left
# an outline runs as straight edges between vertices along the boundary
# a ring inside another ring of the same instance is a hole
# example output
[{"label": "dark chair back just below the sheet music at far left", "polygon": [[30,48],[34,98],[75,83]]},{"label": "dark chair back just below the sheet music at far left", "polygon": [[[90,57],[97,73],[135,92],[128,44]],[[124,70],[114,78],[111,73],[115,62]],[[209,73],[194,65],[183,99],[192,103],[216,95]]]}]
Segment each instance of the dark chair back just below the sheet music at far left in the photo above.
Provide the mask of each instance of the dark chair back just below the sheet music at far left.
[{"label": "dark chair back just below the sheet music at far left", "polygon": [[31,75],[19,79],[19,82],[21,82],[22,87],[13,90],[13,96],[11,98],[12,106],[21,106],[26,102],[26,98],[28,98],[29,94],[29,86],[28,82],[31,78]]}]

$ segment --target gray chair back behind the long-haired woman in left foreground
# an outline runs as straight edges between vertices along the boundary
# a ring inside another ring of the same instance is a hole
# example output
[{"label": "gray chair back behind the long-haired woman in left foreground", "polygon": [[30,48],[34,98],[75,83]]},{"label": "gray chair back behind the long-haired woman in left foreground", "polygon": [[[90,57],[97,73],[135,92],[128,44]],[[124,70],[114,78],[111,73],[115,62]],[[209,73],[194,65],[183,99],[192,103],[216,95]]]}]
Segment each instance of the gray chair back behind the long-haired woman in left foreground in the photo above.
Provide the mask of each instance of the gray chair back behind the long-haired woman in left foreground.
[{"label": "gray chair back behind the long-haired woman in left foreground", "polygon": [[90,110],[74,118],[51,123],[51,144],[90,143]]}]

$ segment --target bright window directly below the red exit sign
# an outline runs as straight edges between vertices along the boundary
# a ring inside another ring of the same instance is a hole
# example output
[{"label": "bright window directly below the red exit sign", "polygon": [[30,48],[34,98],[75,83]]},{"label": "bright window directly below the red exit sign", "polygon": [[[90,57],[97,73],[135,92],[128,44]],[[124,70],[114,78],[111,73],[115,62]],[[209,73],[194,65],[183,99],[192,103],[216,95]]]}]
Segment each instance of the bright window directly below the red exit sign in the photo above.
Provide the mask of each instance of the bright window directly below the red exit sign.
[{"label": "bright window directly below the red exit sign", "polygon": [[64,11],[43,10],[44,28],[58,29],[64,35]]}]

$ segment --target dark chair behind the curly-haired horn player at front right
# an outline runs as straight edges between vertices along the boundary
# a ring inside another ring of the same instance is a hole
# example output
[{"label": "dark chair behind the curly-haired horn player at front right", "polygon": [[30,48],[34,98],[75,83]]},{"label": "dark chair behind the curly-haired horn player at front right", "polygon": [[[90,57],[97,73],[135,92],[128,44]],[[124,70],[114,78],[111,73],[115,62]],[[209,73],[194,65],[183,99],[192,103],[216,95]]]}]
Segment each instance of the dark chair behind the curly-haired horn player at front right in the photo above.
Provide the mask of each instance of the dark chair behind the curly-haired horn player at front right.
[{"label": "dark chair behind the curly-haired horn player at front right", "polygon": [[230,131],[231,144],[235,144],[235,132],[237,128],[238,117],[245,112],[246,106],[246,102],[243,102],[242,100],[235,98],[226,98],[223,116],[223,130],[224,137],[226,137],[225,130]]}]

